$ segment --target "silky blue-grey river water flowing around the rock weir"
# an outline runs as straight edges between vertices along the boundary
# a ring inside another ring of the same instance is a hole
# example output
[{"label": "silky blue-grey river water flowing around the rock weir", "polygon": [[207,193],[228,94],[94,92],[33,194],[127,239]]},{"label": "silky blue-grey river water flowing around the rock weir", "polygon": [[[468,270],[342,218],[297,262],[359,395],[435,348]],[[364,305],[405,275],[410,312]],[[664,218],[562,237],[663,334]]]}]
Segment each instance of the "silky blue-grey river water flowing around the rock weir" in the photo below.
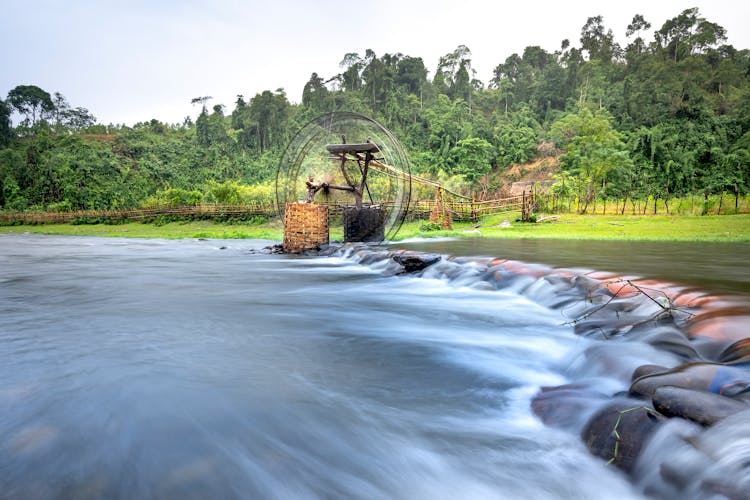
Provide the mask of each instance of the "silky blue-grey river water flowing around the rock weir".
[{"label": "silky blue-grey river water flowing around the rock weir", "polygon": [[[254,253],[269,243],[0,236],[0,498],[644,498],[588,452],[583,415],[546,426],[531,401],[627,390],[674,353],[621,343],[597,363],[609,344],[570,322],[585,301],[538,274],[499,288],[468,259],[393,275],[353,253]],[[698,260],[667,245],[646,268],[616,243],[580,262],[549,244],[403,246],[750,301],[746,245],[686,274]]]}]

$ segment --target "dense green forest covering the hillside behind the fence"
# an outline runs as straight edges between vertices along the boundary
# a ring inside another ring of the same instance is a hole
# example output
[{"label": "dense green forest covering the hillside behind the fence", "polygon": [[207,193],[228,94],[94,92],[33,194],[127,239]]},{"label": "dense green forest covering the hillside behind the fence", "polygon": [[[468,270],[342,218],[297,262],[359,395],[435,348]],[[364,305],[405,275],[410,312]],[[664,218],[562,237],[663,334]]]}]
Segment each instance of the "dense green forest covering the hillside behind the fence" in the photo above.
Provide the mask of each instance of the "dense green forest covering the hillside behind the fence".
[{"label": "dense green forest covering the hillside behind the fence", "polygon": [[60,93],[19,85],[0,100],[0,209],[270,201],[290,137],[335,110],[379,120],[414,171],[466,192],[494,195],[509,166],[547,156],[559,163],[553,191],[582,211],[601,198],[746,195],[750,51],[698,9],[647,32],[635,15],[623,47],[590,17],[578,46],[498,57],[489,82],[465,46],[433,72],[416,56],[348,53],[339,74],[310,76],[299,103],[283,89],[231,108],[201,96],[181,124],[103,125]]}]

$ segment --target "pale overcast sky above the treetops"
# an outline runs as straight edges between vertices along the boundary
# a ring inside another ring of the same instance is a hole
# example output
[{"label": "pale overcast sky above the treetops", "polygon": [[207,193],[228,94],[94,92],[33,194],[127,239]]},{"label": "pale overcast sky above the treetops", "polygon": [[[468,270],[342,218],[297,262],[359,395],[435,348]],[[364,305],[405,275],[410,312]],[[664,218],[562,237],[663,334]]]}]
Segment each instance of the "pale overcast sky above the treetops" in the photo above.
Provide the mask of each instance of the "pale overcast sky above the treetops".
[{"label": "pale overcast sky above the treetops", "polygon": [[37,85],[100,123],[181,123],[197,115],[198,96],[229,112],[237,94],[282,87],[299,102],[311,73],[336,75],[348,52],[401,52],[432,73],[461,44],[486,84],[528,45],[579,46],[590,16],[604,16],[624,46],[633,15],[652,24],[651,39],[690,7],[750,48],[747,1],[0,0],[0,97]]}]

